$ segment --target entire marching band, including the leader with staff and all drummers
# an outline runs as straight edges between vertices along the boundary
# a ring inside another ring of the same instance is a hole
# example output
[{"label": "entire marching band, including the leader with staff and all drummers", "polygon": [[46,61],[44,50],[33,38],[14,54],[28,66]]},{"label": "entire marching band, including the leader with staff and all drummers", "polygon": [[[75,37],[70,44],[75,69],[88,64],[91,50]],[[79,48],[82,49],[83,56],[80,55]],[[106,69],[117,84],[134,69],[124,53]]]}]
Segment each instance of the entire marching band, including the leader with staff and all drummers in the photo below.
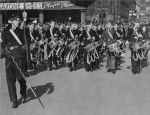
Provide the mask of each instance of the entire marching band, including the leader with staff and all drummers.
[{"label": "entire marching band, including the leader with staff and all drummers", "polygon": [[10,100],[12,107],[17,108],[16,80],[20,83],[24,102],[27,88],[24,77],[39,64],[47,64],[45,60],[49,71],[66,65],[72,72],[84,65],[85,71],[89,72],[101,68],[106,57],[107,72],[115,74],[123,54],[130,49],[131,71],[140,74],[142,68],[148,66],[150,28],[138,22],[85,25],[51,21],[35,24],[13,16],[11,24],[2,28],[0,42],[0,58],[6,59]]}]

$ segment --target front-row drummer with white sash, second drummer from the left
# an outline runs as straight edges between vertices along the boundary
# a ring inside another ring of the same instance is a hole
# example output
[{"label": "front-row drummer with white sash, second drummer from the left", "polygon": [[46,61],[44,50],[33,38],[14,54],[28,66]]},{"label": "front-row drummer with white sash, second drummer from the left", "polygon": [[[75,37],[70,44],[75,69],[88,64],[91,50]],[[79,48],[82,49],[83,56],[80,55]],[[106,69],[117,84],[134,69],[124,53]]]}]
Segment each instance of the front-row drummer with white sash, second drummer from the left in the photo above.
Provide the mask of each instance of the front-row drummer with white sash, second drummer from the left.
[{"label": "front-row drummer with white sash, second drummer from the left", "polygon": [[48,39],[48,46],[47,46],[47,54],[48,54],[48,64],[49,64],[49,70],[57,69],[57,56],[56,56],[56,46],[57,46],[57,35],[56,35],[57,29],[55,28],[55,22],[51,21],[50,23],[50,36]]}]

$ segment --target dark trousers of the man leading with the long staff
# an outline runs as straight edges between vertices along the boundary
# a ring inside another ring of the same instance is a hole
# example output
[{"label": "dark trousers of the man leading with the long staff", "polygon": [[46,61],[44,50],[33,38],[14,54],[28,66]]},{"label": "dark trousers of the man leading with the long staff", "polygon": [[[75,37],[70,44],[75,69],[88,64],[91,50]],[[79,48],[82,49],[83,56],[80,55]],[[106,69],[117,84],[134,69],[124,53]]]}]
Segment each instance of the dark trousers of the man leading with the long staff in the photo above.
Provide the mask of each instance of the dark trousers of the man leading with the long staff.
[{"label": "dark trousers of the man leading with the long staff", "polygon": [[[23,74],[27,71],[27,62],[26,59],[15,59],[18,67],[21,69]],[[17,101],[17,93],[16,93],[16,81],[18,80],[20,84],[20,94],[22,96],[26,96],[26,81],[21,75],[19,69],[16,67],[16,64],[13,62],[12,59],[6,59],[6,79],[8,85],[8,91],[10,96],[10,101]]]}]

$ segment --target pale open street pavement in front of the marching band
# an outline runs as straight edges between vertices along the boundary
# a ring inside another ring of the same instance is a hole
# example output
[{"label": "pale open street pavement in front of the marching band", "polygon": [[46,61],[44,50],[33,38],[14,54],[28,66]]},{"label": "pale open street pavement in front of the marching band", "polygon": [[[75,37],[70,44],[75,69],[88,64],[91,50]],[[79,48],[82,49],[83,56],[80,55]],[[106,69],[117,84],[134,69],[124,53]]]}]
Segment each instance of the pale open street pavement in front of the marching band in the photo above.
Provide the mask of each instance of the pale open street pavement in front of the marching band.
[{"label": "pale open street pavement in front of the marching band", "polygon": [[[0,61],[0,115],[150,115],[150,66],[133,75],[130,53],[116,74],[103,67],[94,72],[81,68],[69,72],[67,67],[33,73],[28,82],[41,99],[28,89],[27,102],[11,108],[5,79],[4,60]],[[150,59],[149,59],[150,61]],[[19,84],[17,85],[18,99]]]}]

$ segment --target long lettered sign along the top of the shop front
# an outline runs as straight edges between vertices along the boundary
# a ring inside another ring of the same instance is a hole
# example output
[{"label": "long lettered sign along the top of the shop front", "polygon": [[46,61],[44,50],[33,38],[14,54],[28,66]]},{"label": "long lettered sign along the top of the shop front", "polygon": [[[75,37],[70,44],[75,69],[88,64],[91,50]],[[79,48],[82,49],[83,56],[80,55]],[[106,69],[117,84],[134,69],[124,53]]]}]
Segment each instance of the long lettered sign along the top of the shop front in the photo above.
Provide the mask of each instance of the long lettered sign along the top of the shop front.
[{"label": "long lettered sign along the top of the shop front", "polygon": [[53,8],[68,8],[74,6],[70,1],[26,2],[24,3],[0,3],[0,10],[42,10]]}]

